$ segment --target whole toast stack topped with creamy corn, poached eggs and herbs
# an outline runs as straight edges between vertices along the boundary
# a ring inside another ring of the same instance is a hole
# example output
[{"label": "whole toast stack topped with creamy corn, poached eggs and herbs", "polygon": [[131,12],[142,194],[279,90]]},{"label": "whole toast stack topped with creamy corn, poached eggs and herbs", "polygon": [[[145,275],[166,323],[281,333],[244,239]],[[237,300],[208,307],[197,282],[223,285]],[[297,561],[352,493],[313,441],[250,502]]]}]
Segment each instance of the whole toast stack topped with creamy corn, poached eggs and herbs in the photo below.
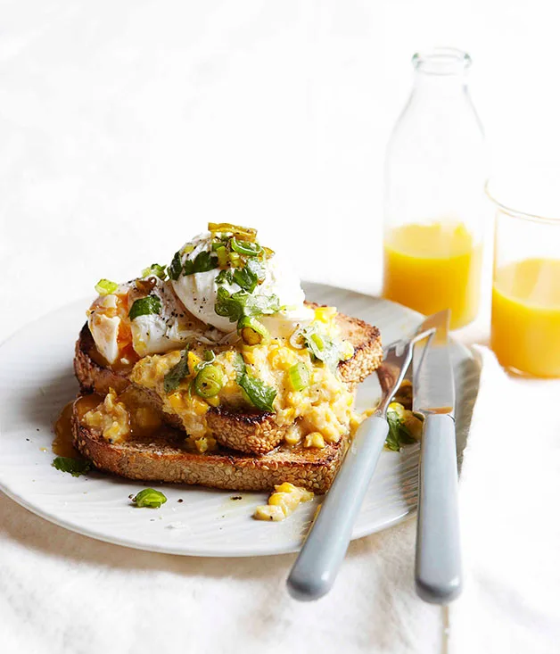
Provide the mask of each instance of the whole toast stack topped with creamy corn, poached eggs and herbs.
[{"label": "whole toast stack topped with creamy corn, poached eggs and herbs", "polygon": [[228,224],[96,289],[74,360],[82,455],[146,481],[328,489],[382,359],[376,327],[306,302],[256,231]]}]

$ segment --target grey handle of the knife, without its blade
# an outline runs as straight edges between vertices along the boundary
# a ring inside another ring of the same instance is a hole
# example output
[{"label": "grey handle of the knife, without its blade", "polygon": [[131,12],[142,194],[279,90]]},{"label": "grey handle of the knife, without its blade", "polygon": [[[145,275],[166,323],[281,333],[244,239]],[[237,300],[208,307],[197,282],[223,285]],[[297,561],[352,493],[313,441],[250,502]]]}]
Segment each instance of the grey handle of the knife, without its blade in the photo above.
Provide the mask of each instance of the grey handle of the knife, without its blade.
[{"label": "grey handle of the knife, without its blade", "polygon": [[462,587],[457,506],[455,420],[424,419],[416,531],[416,592],[432,604],[455,600]]}]

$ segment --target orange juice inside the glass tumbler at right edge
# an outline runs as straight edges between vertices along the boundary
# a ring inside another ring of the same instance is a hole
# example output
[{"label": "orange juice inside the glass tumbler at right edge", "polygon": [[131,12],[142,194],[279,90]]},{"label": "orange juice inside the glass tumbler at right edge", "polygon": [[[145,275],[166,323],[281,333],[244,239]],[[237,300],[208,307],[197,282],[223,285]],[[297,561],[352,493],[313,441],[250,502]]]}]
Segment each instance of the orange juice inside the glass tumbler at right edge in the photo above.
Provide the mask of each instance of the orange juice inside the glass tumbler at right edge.
[{"label": "orange juice inside the glass tumbler at right edge", "polygon": [[490,344],[498,361],[536,377],[560,377],[560,260],[499,266]]}]

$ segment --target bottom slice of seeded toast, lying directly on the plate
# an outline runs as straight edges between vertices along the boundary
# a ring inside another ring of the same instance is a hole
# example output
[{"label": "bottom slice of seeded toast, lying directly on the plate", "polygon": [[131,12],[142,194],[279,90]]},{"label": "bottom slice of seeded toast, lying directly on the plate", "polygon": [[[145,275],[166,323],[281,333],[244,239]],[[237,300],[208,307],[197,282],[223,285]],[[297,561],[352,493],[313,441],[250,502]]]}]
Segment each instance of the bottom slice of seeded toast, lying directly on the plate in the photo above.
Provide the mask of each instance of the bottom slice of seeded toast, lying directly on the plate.
[{"label": "bottom slice of seeded toast, lying directly on the plate", "polygon": [[150,439],[109,443],[80,422],[76,404],[72,436],[78,451],[96,468],[115,475],[233,491],[270,491],[275,484],[291,482],[314,493],[326,493],[348,444],[348,436],[344,436],[322,450],[283,445],[261,456],[222,448],[200,454],[186,449],[185,432],[169,427],[162,427]]}]

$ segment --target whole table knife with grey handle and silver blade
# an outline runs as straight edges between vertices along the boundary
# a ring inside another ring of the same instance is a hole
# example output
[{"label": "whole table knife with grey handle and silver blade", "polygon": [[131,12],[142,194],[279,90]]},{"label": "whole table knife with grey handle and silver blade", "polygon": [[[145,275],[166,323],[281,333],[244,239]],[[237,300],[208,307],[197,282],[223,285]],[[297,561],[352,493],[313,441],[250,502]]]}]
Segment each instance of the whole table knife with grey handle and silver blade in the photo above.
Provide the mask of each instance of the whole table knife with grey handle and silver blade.
[{"label": "whole table knife with grey handle and silver blade", "polygon": [[432,604],[455,600],[462,587],[457,507],[455,385],[449,358],[449,316],[424,320],[432,335],[415,345],[413,410],[424,417],[416,527],[416,592]]}]

